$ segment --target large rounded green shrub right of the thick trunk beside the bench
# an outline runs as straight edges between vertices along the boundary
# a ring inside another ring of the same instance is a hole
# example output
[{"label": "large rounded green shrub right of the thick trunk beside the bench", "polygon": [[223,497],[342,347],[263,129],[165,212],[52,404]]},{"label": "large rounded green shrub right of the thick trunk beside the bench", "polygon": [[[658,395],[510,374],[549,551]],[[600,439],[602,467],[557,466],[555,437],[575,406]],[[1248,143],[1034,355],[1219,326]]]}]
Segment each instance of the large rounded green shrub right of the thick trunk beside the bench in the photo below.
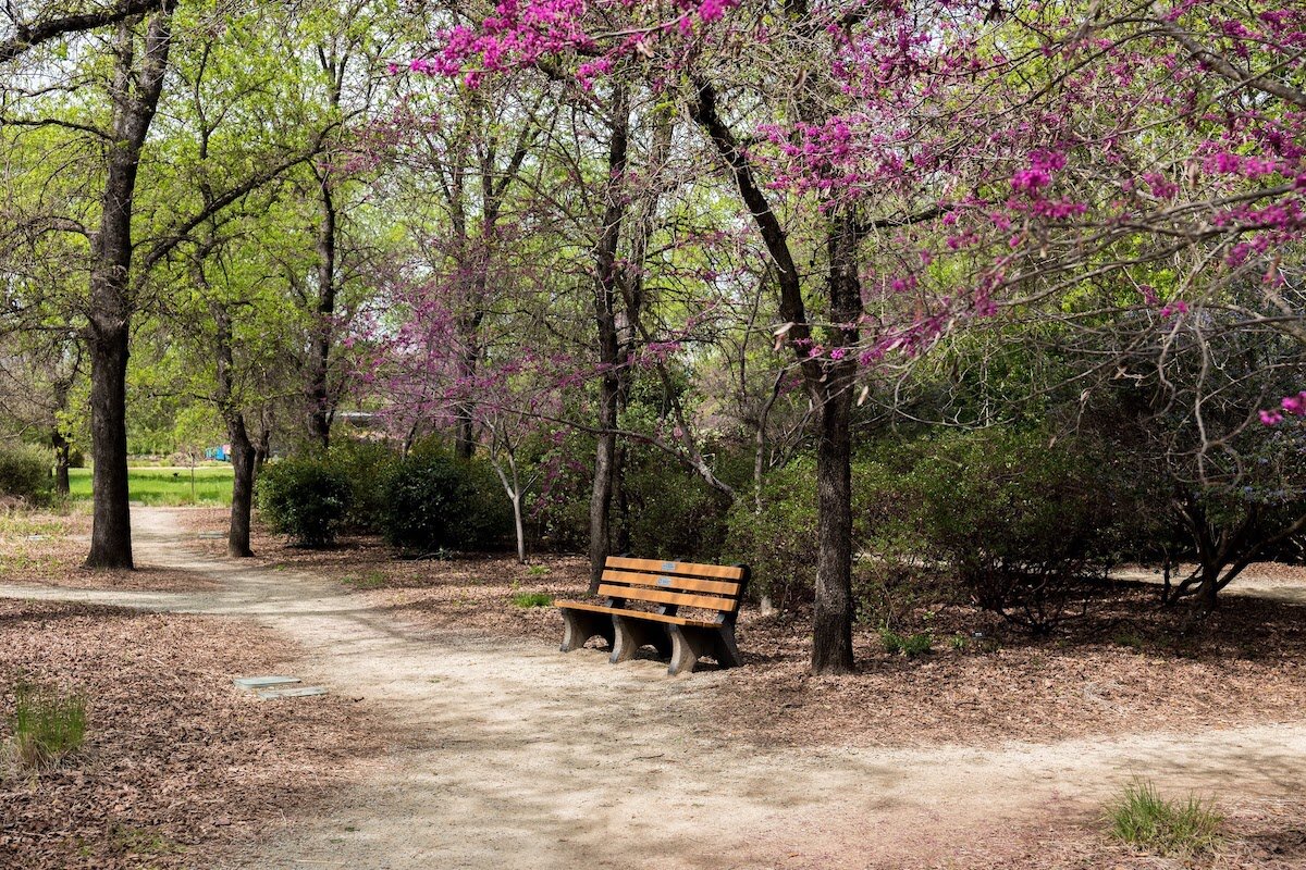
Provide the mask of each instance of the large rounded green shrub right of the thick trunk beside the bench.
[{"label": "large rounded green shrub right of the thick trunk beside the bench", "polygon": [[1036,634],[1087,608],[1105,579],[1122,513],[1111,463],[1042,433],[939,438],[912,472],[927,554],[977,605]]}]

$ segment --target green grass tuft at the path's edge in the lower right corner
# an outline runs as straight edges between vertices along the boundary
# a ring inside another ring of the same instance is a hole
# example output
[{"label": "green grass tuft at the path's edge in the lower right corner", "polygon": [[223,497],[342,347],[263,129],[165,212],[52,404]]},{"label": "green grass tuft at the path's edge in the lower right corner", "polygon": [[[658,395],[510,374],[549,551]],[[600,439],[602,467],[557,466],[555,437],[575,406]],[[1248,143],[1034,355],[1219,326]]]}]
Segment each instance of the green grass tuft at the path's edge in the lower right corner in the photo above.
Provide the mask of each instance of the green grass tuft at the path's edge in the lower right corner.
[{"label": "green grass tuft at the path's edge in the lower right corner", "polygon": [[1224,818],[1209,805],[1188,796],[1185,802],[1162,798],[1151,783],[1134,781],[1109,807],[1111,836],[1162,857],[1192,857],[1220,845]]}]

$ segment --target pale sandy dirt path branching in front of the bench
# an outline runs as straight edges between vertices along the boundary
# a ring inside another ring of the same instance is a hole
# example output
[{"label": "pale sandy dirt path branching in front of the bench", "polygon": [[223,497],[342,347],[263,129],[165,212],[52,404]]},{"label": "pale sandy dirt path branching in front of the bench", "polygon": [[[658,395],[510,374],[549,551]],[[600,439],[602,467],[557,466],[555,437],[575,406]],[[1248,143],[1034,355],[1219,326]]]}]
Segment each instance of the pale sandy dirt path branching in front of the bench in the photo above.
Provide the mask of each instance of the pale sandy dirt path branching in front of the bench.
[{"label": "pale sandy dirt path branching in front of the bench", "polygon": [[752,746],[705,727],[729,672],[671,680],[652,661],[417,633],[338,584],[196,554],[166,510],[133,520],[141,562],[222,588],[0,595],[256,620],[308,651],[299,676],[392,724],[374,775],[249,844],[239,867],[927,866],[1007,826],[1092,819],[1136,775],[1175,790],[1306,789],[1306,724],[996,749]]}]

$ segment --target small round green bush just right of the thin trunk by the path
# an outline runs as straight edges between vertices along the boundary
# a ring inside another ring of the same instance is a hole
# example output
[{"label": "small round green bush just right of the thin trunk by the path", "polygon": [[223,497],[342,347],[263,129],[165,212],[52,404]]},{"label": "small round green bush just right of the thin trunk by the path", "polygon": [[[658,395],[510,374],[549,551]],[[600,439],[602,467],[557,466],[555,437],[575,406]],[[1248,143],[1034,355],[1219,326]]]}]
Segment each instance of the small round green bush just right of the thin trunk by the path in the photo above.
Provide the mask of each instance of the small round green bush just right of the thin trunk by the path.
[{"label": "small round green bush just right of the thin trunk by the path", "polygon": [[333,544],[353,497],[349,477],[316,454],[268,463],[257,489],[261,518],[303,547]]}]

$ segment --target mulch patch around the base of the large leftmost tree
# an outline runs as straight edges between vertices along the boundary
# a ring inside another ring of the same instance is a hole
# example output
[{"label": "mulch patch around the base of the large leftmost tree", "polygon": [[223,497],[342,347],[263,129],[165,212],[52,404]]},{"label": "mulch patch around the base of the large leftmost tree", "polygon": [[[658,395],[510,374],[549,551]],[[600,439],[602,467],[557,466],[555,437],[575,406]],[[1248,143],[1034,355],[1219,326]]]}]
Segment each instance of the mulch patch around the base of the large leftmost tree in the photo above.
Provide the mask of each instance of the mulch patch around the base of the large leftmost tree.
[{"label": "mulch patch around the base of the large leftmost tree", "polygon": [[90,514],[73,506],[63,514],[0,511],[0,583],[33,583],[64,590],[202,592],[213,580],[185,571],[140,565],[135,571],[89,571]]}]

